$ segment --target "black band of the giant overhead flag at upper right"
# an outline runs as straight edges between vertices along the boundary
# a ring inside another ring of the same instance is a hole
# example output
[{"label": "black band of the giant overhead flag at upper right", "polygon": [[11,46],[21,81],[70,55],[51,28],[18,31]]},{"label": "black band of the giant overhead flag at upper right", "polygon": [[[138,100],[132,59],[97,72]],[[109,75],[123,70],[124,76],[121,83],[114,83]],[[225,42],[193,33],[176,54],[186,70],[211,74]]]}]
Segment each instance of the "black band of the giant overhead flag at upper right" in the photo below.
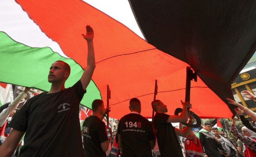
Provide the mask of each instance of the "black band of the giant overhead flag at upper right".
[{"label": "black band of the giant overhead flag at upper right", "polygon": [[148,43],[188,63],[224,102],[233,97],[231,84],[256,51],[254,0],[129,1]]}]

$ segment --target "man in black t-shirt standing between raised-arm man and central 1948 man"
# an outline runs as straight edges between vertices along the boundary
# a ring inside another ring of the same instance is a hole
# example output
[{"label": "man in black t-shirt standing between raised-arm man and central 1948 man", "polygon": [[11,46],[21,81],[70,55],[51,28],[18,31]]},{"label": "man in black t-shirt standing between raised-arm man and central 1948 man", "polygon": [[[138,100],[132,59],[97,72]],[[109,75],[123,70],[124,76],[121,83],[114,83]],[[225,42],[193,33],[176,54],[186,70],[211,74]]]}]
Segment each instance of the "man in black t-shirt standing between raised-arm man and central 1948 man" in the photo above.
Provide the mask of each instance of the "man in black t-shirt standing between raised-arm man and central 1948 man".
[{"label": "man in black t-shirt standing between raised-arm man and central 1948 man", "polygon": [[93,101],[93,114],[83,122],[83,146],[85,155],[90,157],[105,157],[109,148],[106,125],[102,121],[107,109],[102,100]]}]

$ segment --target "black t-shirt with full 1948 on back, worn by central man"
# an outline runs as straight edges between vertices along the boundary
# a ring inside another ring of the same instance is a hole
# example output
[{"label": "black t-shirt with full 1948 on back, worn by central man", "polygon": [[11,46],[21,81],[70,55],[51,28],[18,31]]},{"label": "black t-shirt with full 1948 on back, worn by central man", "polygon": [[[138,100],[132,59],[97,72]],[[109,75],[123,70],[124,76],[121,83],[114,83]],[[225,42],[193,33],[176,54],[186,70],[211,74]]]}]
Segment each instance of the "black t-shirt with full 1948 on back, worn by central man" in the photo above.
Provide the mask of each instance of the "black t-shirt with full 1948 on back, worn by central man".
[{"label": "black t-shirt with full 1948 on back, worn by central man", "polygon": [[153,127],[142,115],[130,113],[123,116],[117,132],[121,135],[122,157],[152,157],[149,141],[155,139]]}]

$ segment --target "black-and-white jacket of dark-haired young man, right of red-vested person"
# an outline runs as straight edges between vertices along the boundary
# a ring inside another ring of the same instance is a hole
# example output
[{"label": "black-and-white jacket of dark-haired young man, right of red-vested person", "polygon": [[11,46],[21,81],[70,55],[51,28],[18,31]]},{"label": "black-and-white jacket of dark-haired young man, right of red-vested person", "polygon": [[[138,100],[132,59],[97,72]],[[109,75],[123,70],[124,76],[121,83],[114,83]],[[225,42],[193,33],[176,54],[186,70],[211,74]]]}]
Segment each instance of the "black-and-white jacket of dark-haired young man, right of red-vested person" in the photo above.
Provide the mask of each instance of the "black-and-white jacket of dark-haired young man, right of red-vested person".
[{"label": "black-and-white jacket of dark-haired young man, right of red-vested person", "polygon": [[208,157],[221,157],[219,150],[223,150],[221,143],[217,143],[214,135],[209,132],[199,132],[199,140],[201,142],[203,153]]}]

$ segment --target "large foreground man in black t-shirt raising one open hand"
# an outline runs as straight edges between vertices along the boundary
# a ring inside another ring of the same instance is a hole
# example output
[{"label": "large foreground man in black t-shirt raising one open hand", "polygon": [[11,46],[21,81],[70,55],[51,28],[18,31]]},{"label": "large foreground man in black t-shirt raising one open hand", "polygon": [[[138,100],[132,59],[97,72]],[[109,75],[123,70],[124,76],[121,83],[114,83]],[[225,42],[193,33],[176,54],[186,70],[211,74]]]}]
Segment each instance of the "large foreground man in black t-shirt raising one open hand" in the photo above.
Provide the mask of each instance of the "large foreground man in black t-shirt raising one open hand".
[{"label": "large foreground man in black t-shirt raising one open hand", "polygon": [[86,26],[86,35],[82,36],[87,41],[88,56],[81,79],[72,87],[65,88],[70,67],[63,61],[54,62],[48,75],[50,91],[29,99],[15,115],[9,124],[13,130],[0,146],[0,157],[13,154],[25,132],[24,146],[19,157],[85,155],[80,132],[79,104],[95,69],[93,29]]}]

